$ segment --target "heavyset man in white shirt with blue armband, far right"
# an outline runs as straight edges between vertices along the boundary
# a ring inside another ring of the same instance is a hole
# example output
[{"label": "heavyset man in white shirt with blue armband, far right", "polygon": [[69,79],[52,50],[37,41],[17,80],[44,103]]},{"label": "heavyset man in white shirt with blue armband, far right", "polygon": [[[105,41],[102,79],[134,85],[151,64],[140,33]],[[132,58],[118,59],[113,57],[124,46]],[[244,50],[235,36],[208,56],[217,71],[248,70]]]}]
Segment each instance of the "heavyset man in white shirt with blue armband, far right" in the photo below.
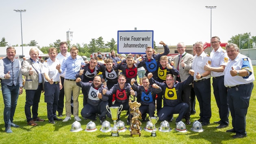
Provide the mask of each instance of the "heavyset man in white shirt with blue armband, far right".
[{"label": "heavyset man in white shirt with blue armband, far right", "polygon": [[224,85],[228,88],[228,106],[233,126],[226,132],[236,133],[233,138],[243,138],[247,136],[246,114],[254,87],[254,71],[251,59],[239,53],[236,44],[226,45],[226,51],[229,61],[224,70]]}]

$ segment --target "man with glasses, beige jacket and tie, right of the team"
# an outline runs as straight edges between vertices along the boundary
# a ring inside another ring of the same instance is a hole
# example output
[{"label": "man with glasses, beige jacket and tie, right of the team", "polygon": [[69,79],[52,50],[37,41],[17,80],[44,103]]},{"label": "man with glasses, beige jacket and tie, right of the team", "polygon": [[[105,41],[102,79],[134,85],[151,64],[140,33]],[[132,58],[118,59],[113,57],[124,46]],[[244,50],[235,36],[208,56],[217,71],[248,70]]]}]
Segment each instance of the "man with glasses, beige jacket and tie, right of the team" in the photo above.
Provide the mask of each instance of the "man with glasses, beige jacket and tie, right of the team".
[{"label": "man with glasses, beige jacket and tie, right of the team", "polygon": [[[191,69],[191,64],[193,61],[193,55],[187,53],[186,46],[183,42],[179,42],[177,44],[177,50],[179,55],[174,57],[174,66],[179,71],[178,76],[174,76],[174,80],[178,82],[183,82],[189,77],[189,70]],[[185,114],[186,124],[190,125],[190,91],[191,91],[192,83],[189,87],[182,89],[182,101],[189,105],[189,110]]]}]

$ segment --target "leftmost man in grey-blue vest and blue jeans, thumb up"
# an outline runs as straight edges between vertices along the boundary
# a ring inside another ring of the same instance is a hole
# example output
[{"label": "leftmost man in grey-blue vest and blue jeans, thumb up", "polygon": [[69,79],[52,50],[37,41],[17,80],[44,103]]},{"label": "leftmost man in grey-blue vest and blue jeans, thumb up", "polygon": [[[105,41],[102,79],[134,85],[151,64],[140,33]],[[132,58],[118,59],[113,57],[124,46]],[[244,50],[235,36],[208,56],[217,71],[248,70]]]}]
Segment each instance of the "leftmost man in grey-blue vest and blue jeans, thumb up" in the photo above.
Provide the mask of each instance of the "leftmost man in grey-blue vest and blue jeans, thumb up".
[{"label": "leftmost man in grey-blue vest and blue jeans, thumb up", "polygon": [[11,127],[20,127],[13,123],[13,116],[17,106],[19,94],[23,92],[21,62],[15,59],[14,47],[7,47],[4,59],[0,59],[0,78],[4,99],[5,132],[12,133]]}]

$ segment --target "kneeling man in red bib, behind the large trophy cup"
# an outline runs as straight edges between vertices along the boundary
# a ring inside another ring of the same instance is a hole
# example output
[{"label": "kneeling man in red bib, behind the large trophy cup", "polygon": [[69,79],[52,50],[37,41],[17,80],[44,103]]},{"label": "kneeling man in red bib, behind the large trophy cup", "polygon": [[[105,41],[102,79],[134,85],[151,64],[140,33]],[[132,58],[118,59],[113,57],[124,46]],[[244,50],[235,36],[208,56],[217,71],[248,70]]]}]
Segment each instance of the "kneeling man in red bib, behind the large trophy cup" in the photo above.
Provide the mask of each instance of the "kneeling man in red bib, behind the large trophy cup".
[{"label": "kneeling man in red bib, behind the large trophy cup", "polygon": [[[106,95],[113,95],[113,99],[115,100],[115,104],[113,104],[113,106],[123,105],[122,110],[130,110],[130,106],[128,104],[129,97],[130,95],[137,96],[137,93],[132,90],[132,87],[129,83],[126,83],[126,76],[124,74],[120,74],[117,80],[118,83],[115,84],[110,90],[108,90]],[[120,118],[120,115],[118,117]],[[127,118],[127,125],[130,125],[130,115]]]}]

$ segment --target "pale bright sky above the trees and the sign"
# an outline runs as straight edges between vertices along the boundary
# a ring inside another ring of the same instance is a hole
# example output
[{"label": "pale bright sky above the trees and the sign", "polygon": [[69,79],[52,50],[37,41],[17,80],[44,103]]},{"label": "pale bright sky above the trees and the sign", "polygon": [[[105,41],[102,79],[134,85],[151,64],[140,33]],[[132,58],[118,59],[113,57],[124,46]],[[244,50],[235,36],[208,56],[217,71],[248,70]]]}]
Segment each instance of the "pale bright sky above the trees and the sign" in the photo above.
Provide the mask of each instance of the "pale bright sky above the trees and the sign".
[{"label": "pale bright sky above the trees and the sign", "polygon": [[210,9],[212,36],[227,42],[232,36],[251,32],[256,36],[255,0],[1,0],[0,38],[9,45],[31,40],[40,47],[73,33],[73,43],[84,44],[103,37],[117,41],[118,30],[154,30],[154,40],[168,45],[197,41],[210,42]]}]

